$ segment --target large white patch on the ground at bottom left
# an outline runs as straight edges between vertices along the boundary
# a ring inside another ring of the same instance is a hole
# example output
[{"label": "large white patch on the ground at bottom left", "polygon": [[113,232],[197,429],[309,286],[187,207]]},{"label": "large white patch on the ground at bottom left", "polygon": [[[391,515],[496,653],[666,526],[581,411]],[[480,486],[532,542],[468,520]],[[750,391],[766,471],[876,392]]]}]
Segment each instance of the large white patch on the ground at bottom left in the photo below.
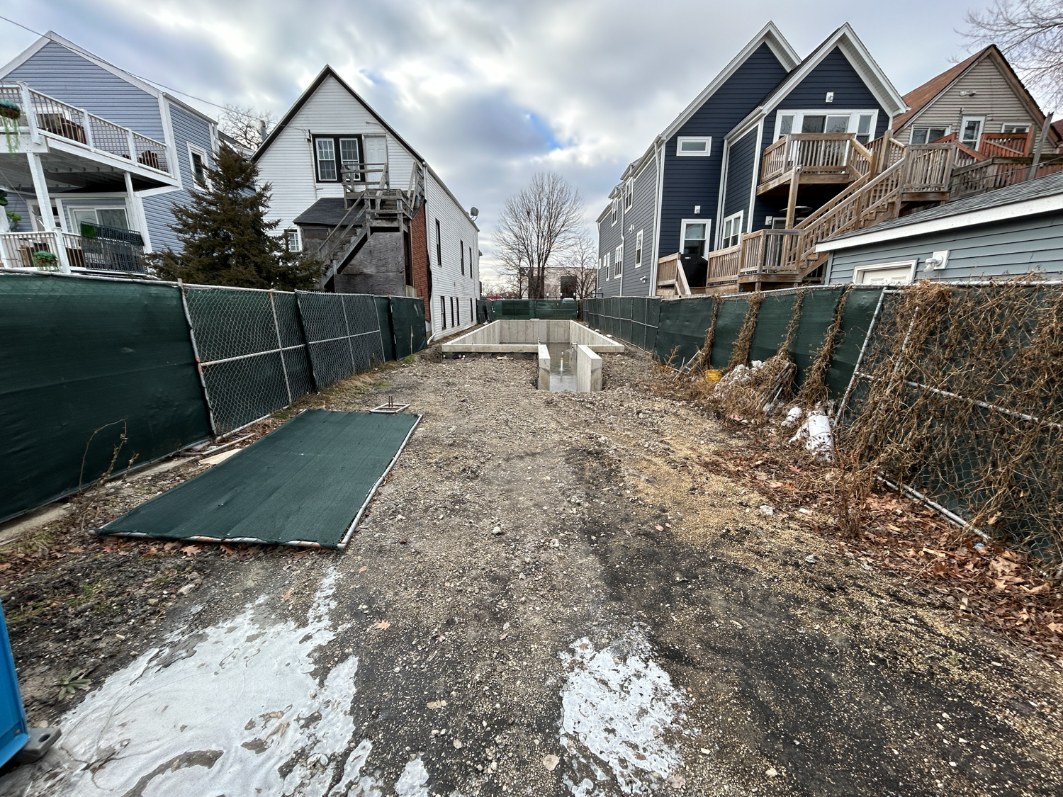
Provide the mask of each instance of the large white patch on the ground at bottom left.
[{"label": "large white patch on the ground at bottom left", "polygon": [[[336,664],[323,683],[313,675],[314,650],[337,634],[335,589],[331,571],[304,626],[260,625],[248,606],[145,652],[64,718],[41,762],[0,780],[0,794],[378,797],[384,786],[362,775],[372,744],[348,754],[358,659]],[[399,793],[421,795],[424,765],[406,769]]]}]

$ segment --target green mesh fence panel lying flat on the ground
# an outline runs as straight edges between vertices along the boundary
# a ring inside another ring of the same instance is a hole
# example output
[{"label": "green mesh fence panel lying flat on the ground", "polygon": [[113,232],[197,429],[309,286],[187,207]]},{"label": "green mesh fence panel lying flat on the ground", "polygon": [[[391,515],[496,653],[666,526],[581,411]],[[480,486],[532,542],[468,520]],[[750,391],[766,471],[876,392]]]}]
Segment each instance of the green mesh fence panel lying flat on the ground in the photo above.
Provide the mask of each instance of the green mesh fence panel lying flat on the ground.
[{"label": "green mesh fence panel lying flat on the ground", "polygon": [[99,533],[341,547],[418,420],[306,410]]}]

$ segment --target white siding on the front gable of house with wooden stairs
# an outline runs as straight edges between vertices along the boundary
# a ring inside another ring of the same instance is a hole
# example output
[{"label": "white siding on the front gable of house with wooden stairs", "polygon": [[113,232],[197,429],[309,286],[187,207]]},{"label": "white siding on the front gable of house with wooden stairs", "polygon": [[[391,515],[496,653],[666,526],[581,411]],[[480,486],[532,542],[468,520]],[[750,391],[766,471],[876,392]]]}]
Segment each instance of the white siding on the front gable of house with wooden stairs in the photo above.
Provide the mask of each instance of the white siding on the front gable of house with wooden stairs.
[{"label": "white siding on the front gable of house with wooden stairs", "polygon": [[309,134],[386,134],[388,170],[392,188],[408,188],[414,156],[394,136],[331,75],[282,130],[258,158],[260,183],[273,186],[270,220],[280,219],[279,230],[292,225],[296,217],[323,197],[342,197],[340,183],[318,183]]}]

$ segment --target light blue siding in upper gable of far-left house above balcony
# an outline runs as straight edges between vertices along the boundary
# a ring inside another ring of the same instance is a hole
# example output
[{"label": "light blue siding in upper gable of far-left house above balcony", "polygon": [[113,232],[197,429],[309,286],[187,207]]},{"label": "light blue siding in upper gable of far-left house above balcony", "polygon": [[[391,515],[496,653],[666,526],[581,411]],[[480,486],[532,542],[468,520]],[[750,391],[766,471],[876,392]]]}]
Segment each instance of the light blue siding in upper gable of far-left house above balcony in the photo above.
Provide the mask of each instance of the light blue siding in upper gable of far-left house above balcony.
[{"label": "light blue siding in upper gable of far-left house above balcony", "polygon": [[156,97],[54,41],[4,75],[4,81],[24,81],[30,88],[163,140]]}]

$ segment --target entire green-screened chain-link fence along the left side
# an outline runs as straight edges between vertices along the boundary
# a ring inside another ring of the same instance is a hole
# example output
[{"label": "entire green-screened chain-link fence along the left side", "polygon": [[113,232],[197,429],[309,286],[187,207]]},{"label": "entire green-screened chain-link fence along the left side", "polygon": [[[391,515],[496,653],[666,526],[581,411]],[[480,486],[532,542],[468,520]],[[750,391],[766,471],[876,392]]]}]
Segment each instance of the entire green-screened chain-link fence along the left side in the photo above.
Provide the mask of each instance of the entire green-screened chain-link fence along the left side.
[{"label": "entire green-screened chain-link fence along the left side", "polygon": [[0,520],[426,345],[420,299],[28,273],[0,333]]}]

